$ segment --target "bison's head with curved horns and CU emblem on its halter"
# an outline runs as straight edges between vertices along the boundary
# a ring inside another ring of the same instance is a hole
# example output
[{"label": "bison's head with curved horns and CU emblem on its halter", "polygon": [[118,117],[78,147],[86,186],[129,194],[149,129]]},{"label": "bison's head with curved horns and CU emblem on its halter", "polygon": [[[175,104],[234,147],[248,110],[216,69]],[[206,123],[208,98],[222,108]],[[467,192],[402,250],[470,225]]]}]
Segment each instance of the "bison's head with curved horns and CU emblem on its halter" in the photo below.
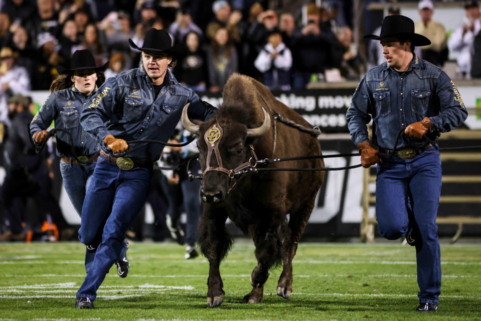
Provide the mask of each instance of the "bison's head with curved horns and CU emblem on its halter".
[{"label": "bison's head with curved horns and CU emblem on its halter", "polygon": [[[223,107],[217,110],[216,117],[197,124],[187,116],[188,107],[186,105],[182,111],[182,124],[199,137],[197,147],[203,172],[201,198],[206,203],[220,203],[235,184],[233,170],[249,162],[250,143],[269,130],[271,120],[263,108],[263,123],[248,128],[249,117],[239,117],[242,110]],[[245,121],[241,122],[239,118]]]}]

